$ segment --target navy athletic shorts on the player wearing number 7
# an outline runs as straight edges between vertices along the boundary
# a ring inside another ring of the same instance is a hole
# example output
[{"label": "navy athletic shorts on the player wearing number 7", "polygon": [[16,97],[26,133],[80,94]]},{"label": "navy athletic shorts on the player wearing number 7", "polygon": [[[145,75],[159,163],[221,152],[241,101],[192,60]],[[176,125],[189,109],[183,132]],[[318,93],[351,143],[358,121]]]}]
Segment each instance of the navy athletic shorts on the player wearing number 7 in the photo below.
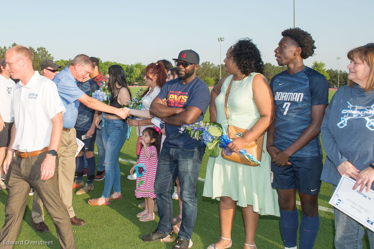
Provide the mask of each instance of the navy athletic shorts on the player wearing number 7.
[{"label": "navy athletic shorts on the player wearing number 7", "polygon": [[322,155],[313,157],[289,157],[291,165],[283,168],[271,163],[272,187],[278,189],[296,188],[304,194],[318,194],[321,188]]}]

